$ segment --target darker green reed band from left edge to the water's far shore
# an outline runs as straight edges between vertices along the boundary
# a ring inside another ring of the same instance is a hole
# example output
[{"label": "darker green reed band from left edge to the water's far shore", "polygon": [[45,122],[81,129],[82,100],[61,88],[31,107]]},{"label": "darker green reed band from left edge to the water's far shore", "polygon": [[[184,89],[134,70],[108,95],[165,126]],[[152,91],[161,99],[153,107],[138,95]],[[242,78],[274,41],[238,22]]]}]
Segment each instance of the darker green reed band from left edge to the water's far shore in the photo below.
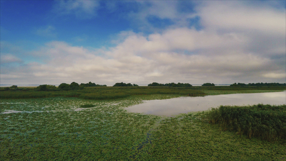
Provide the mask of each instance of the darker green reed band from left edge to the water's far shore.
[{"label": "darker green reed band from left edge to the water's far shore", "polygon": [[206,96],[191,87],[85,87],[70,91],[1,91],[0,99],[45,98],[45,97],[79,97],[82,99],[116,99],[133,95],[172,94],[181,96]]}]

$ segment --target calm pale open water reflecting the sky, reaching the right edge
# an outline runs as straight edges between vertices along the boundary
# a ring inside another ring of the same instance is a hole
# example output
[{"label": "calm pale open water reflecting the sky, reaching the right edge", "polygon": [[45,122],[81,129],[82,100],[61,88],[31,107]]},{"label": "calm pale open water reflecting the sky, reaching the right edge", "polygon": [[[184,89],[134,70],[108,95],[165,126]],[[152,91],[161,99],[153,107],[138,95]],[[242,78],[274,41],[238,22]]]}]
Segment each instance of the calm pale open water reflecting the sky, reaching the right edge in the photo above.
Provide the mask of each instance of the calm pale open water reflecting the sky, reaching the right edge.
[{"label": "calm pale open water reflecting the sky, reaching the right edge", "polygon": [[255,94],[231,94],[206,97],[178,97],[164,100],[147,100],[143,104],[125,108],[131,113],[171,116],[179,113],[205,111],[220,105],[286,104],[286,91]]}]

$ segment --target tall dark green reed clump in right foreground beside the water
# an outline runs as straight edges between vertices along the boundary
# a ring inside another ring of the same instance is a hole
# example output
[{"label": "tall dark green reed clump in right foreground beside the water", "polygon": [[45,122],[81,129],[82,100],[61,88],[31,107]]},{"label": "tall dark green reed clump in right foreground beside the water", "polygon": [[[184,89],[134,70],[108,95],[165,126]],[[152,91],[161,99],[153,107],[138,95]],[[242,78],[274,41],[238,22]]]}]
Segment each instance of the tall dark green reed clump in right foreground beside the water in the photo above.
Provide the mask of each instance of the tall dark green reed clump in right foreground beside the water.
[{"label": "tall dark green reed clump in right foreground beside the water", "polygon": [[286,105],[221,106],[207,114],[208,122],[237,131],[248,138],[267,141],[286,139]]}]

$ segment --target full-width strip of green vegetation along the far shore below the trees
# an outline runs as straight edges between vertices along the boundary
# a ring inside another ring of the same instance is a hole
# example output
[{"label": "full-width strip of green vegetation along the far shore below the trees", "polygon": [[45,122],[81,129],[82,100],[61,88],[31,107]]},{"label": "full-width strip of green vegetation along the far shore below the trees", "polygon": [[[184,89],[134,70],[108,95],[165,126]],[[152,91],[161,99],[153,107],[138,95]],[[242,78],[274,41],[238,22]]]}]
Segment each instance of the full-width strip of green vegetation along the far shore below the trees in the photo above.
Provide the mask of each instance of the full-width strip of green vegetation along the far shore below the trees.
[{"label": "full-width strip of green vegetation along the far shore below the trees", "polygon": [[[63,85],[62,85],[63,84]],[[44,98],[44,97],[79,97],[82,99],[116,99],[133,95],[179,95],[179,96],[206,96],[235,93],[279,92],[286,90],[284,86],[193,86],[193,87],[153,87],[153,86],[126,86],[106,87],[92,86],[81,88],[78,83],[62,83],[59,89],[52,85],[40,85],[36,88],[22,87],[6,90],[1,87],[0,99]],[[55,89],[56,88],[56,89]]]}]

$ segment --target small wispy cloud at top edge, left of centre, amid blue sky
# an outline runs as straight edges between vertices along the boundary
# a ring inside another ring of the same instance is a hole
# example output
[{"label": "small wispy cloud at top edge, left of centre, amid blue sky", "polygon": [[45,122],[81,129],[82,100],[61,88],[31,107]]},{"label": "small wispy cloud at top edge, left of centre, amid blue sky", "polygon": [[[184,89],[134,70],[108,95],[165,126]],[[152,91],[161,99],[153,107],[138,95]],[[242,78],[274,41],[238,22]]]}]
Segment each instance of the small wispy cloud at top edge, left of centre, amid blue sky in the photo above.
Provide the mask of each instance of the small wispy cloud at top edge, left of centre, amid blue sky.
[{"label": "small wispy cloud at top edge, left of centre, amid blue sky", "polygon": [[96,16],[99,1],[96,0],[59,0],[55,1],[54,12],[61,15],[75,14],[77,18],[92,18]]}]

